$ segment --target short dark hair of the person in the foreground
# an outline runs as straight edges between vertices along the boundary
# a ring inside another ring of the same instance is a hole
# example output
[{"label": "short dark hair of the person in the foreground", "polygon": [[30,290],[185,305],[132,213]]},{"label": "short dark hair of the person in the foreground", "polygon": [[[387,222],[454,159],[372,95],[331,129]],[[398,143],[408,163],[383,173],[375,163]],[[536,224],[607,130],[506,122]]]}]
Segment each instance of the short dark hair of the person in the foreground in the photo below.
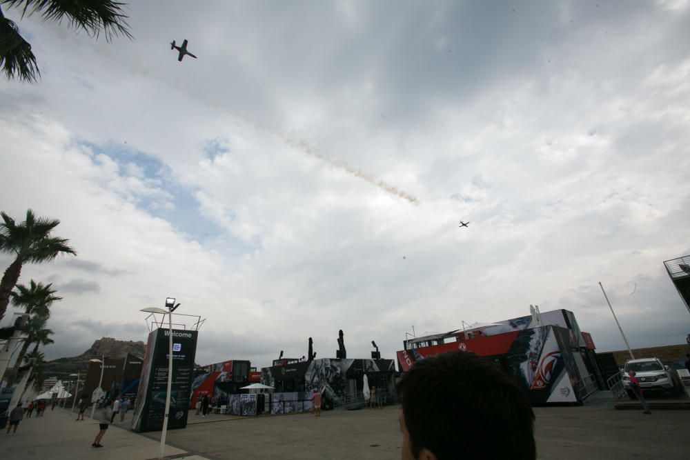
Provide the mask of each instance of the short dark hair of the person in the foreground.
[{"label": "short dark hair of the person in the foreground", "polygon": [[495,363],[469,352],[417,361],[398,384],[410,448],[438,460],[462,455],[533,460],[534,412],[523,390]]}]

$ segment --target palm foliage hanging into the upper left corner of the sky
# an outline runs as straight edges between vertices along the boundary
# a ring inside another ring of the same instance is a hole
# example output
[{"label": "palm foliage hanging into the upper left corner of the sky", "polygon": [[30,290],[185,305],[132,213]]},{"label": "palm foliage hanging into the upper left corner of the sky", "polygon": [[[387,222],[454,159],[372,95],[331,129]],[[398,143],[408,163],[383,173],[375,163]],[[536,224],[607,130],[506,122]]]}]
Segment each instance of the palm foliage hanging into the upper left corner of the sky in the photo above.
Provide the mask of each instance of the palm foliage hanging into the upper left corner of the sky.
[{"label": "palm foliage hanging into the upper left corner of the sky", "polygon": [[[128,30],[127,16],[122,7],[125,3],[112,0],[0,0],[9,8],[21,9],[25,14],[41,12],[46,21],[60,22],[68,19],[69,26],[84,30],[98,38],[102,31],[106,40],[119,34],[132,38]],[[31,45],[21,37],[17,24],[7,19],[0,10],[0,67],[8,79],[17,77],[22,81],[36,81],[40,75],[36,57]]]}]

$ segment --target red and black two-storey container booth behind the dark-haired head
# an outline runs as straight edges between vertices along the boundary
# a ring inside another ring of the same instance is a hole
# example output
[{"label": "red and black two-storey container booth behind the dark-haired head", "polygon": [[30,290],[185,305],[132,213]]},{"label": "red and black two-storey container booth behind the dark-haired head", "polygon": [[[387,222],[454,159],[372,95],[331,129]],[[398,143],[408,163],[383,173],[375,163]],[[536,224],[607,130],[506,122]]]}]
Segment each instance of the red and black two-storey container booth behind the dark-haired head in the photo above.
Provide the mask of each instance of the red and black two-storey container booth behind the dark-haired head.
[{"label": "red and black two-storey container booth behind the dark-haired head", "polygon": [[510,374],[534,405],[582,403],[604,388],[593,347],[572,312],[553,310],[406,340],[397,361],[406,372],[415,361],[435,354],[475,352]]}]

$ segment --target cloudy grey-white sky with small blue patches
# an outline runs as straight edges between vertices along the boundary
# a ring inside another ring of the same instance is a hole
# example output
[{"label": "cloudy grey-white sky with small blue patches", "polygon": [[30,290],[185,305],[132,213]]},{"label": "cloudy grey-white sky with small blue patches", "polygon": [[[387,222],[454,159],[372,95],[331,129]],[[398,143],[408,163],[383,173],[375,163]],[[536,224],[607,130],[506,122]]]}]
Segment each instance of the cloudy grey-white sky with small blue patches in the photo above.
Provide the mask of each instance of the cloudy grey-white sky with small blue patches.
[{"label": "cloudy grey-white sky with small blue patches", "polygon": [[599,282],[633,348],[690,332],[689,1],[132,2],[110,43],[3,12],[41,78],[0,79],[0,209],[78,252],[19,279],[63,297],[48,359],[168,296],[201,364],[530,304],[621,350]]}]

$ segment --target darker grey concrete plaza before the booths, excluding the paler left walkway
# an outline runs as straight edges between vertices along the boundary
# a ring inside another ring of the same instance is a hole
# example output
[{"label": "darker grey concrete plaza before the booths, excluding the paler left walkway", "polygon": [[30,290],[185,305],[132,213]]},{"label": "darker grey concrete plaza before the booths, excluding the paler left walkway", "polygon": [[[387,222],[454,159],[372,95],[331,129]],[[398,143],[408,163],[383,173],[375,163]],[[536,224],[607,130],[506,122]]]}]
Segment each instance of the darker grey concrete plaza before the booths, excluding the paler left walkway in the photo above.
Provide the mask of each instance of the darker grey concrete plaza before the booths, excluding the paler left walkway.
[{"label": "darker grey concrete plaza before the booths, excluding the paler left walkway", "polygon": [[[201,419],[168,434],[172,445],[210,459],[400,459],[400,406],[221,421]],[[690,412],[607,406],[535,408],[539,459],[688,459]],[[190,414],[190,419],[195,417]],[[462,417],[460,417],[462,420]],[[462,430],[462,421],[458,423]],[[147,434],[152,438],[157,435]],[[502,442],[496,433],[496,442]],[[487,458],[491,446],[486,448]]]}]

